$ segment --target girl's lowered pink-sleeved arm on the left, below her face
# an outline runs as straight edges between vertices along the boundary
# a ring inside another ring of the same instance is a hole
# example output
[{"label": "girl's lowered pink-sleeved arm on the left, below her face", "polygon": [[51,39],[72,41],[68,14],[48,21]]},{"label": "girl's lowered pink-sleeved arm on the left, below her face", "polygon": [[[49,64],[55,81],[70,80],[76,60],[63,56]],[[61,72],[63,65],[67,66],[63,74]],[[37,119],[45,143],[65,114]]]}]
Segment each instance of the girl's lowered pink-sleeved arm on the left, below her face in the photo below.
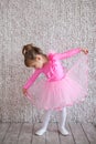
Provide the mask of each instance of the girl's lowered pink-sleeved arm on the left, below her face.
[{"label": "girl's lowered pink-sleeved arm on the left, below her face", "polygon": [[40,75],[40,73],[41,73],[41,69],[35,70],[35,72],[32,74],[32,76],[24,84],[23,89],[28,90],[33,84],[33,82],[36,80],[36,78]]}]

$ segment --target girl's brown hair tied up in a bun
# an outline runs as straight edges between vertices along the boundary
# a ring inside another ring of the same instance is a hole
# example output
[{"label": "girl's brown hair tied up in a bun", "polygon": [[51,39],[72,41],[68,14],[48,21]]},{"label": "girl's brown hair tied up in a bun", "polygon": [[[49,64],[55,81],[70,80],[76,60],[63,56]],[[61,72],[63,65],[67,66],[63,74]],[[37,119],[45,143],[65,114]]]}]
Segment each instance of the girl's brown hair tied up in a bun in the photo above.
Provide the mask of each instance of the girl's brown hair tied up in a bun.
[{"label": "girl's brown hair tied up in a bun", "polygon": [[24,45],[22,49],[22,54],[24,55],[24,64],[26,66],[30,66],[30,62],[32,60],[35,60],[36,54],[41,54],[43,56],[46,56],[46,54],[44,54],[40,48],[36,48],[33,44]]}]

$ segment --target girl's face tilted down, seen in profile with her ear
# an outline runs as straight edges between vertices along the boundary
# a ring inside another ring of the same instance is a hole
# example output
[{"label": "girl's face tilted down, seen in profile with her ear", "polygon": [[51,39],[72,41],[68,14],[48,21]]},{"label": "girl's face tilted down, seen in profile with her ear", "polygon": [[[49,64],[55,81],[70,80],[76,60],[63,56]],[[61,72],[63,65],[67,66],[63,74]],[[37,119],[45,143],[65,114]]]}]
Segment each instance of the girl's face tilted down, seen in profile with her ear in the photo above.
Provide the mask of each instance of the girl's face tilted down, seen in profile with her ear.
[{"label": "girl's face tilted down, seen in profile with her ear", "polygon": [[36,55],[36,59],[31,61],[30,66],[34,69],[41,69],[43,68],[44,63],[44,58],[42,55]]}]

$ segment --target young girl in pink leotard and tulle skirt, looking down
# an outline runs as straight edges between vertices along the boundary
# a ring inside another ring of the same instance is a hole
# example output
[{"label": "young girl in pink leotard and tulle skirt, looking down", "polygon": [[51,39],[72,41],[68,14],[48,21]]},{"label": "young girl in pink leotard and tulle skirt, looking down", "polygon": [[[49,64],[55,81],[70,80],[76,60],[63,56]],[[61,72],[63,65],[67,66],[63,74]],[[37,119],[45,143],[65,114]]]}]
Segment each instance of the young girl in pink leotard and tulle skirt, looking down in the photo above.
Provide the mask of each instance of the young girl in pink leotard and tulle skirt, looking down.
[{"label": "young girl in pink leotard and tulle skirt, looking down", "polygon": [[[62,66],[60,60],[65,60],[77,53],[83,56],[70,69]],[[61,112],[58,131],[68,135],[65,128],[66,106],[83,101],[87,94],[87,49],[72,49],[64,53],[44,54],[40,48],[33,44],[23,47],[24,64],[34,68],[35,71],[23,86],[25,94],[39,110],[45,110],[46,114],[42,127],[35,132],[43,135],[46,132],[52,111]],[[36,78],[44,73],[46,79],[33,84]],[[33,84],[33,85],[32,85]],[[32,85],[32,88],[31,88]],[[32,92],[30,93],[30,89]]]}]

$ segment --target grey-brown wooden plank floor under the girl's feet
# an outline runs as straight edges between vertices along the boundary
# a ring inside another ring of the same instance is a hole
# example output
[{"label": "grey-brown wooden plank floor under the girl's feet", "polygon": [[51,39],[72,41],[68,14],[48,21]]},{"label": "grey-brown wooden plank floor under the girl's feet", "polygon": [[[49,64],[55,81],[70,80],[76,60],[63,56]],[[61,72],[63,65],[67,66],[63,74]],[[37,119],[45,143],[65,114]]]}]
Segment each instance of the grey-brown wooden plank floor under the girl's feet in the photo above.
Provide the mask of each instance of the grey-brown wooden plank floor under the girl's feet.
[{"label": "grey-brown wooden plank floor under the girl's feet", "polygon": [[57,123],[50,123],[43,136],[34,132],[42,123],[0,123],[0,144],[96,144],[96,127],[92,123],[67,123],[68,136],[58,133]]}]

